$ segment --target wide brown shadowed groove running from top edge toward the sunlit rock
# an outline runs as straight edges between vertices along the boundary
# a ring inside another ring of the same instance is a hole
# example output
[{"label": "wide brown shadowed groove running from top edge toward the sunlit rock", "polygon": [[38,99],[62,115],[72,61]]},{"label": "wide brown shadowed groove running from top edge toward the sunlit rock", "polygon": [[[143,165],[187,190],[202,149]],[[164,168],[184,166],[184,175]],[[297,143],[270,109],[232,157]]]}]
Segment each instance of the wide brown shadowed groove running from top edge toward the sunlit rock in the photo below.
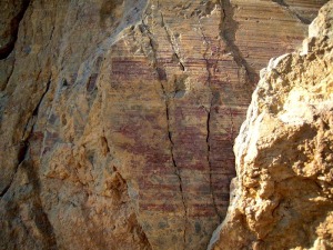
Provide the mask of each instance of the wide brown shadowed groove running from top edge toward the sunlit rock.
[{"label": "wide brown shadowed groove running from top edge toward the sunlit rock", "polygon": [[251,84],[254,84],[259,80],[259,74],[255,70],[246,62],[243,58],[242,52],[239,47],[234,43],[235,33],[238,30],[238,22],[233,19],[234,9],[230,3],[230,0],[220,0],[222,17],[220,24],[220,37],[224,40],[226,44],[226,50],[232,53],[234,61],[238,67],[244,68],[246,72],[246,83],[250,81]]}]

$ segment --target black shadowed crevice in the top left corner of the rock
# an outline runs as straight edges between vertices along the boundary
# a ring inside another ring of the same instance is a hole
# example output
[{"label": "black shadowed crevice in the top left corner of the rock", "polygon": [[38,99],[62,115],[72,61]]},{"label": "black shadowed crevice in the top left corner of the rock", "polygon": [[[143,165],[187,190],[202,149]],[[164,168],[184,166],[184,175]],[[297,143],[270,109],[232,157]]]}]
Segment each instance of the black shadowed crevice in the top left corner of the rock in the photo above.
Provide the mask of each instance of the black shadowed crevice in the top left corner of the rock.
[{"label": "black shadowed crevice in the top left corner of the rock", "polygon": [[19,26],[24,17],[24,13],[30,4],[30,0],[22,0],[21,9],[10,22],[10,41],[0,49],[0,60],[6,59],[13,50],[18,40]]}]

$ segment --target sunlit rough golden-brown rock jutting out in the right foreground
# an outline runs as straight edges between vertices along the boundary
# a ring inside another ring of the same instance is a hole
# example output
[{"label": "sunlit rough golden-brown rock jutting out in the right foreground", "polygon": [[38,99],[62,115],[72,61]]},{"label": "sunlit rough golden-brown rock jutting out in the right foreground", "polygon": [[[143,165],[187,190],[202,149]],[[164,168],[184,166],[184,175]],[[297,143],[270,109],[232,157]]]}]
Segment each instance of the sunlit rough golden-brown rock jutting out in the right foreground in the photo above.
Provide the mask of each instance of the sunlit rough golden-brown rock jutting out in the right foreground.
[{"label": "sunlit rough golden-brown rock jutting out in the right foreground", "polygon": [[209,249],[333,249],[333,2],[301,52],[271,60],[234,151],[238,177]]}]

